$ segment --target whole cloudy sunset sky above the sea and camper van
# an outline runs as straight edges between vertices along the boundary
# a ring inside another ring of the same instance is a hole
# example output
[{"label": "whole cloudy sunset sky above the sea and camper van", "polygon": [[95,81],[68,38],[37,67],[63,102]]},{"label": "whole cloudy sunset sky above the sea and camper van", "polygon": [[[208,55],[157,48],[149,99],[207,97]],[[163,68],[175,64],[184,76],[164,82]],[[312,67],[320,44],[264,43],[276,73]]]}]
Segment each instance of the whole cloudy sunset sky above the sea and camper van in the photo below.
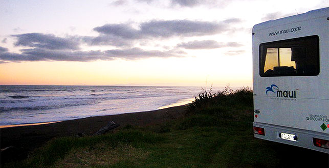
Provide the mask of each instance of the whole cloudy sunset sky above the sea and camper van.
[{"label": "whole cloudy sunset sky above the sea and camper van", "polygon": [[253,25],[322,0],[0,0],[0,85],[252,87]]}]

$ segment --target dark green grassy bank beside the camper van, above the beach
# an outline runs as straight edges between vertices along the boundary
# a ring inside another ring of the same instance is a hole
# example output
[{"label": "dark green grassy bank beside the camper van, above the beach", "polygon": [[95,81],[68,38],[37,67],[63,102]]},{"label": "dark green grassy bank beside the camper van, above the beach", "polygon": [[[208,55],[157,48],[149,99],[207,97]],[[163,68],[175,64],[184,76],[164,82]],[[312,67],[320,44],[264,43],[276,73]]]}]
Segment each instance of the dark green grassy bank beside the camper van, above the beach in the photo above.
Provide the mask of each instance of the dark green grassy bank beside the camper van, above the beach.
[{"label": "dark green grassy bank beside the camper van, above the beach", "polygon": [[249,88],[203,91],[161,126],[53,139],[5,167],[328,167],[328,155],[253,137]]}]

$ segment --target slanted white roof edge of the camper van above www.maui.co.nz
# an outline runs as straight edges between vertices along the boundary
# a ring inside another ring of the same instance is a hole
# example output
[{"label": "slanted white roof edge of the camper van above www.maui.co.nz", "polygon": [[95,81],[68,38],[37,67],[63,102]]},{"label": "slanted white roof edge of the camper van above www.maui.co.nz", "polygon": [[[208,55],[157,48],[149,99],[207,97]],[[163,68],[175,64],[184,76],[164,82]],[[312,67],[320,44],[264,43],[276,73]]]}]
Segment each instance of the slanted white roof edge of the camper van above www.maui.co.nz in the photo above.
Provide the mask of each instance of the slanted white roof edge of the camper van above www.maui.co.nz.
[{"label": "slanted white roof edge of the camper van above www.maui.co.nz", "polygon": [[329,7],[312,10],[303,14],[262,22],[254,25],[254,27],[252,28],[252,32],[259,31],[262,29],[268,29],[270,27],[274,27],[277,25],[284,25],[284,24],[289,24],[289,23],[294,23],[294,22],[299,22],[299,21],[309,20],[319,17],[329,17]]}]

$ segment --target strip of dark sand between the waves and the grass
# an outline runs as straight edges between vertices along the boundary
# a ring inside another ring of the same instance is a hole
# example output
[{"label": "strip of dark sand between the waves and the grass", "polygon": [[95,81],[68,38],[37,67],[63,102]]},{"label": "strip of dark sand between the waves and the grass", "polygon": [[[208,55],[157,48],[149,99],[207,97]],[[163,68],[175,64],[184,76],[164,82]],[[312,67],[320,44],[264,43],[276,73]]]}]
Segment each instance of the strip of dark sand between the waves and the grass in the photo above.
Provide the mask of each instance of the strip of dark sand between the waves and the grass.
[{"label": "strip of dark sand between the waves and the grass", "polygon": [[[93,135],[100,128],[114,121],[122,128],[126,125],[149,126],[157,125],[172,119],[183,117],[186,105],[169,107],[159,110],[120,115],[97,116],[84,119],[67,120],[51,124],[7,127],[0,129],[0,146],[2,164],[16,159],[24,159],[28,152],[41,147],[50,139],[77,134]],[[3,150],[10,147],[9,150]]]}]

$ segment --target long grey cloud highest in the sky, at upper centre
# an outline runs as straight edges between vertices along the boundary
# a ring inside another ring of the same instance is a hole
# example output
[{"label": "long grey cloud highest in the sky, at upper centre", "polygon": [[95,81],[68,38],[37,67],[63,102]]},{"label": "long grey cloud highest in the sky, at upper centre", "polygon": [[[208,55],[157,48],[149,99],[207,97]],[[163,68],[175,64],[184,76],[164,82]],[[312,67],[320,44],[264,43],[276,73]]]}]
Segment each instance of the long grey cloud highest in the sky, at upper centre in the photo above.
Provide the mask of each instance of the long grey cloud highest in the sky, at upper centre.
[{"label": "long grey cloud highest in the sky, at upper centre", "polygon": [[138,27],[130,24],[104,24],[95,27],[96,37],[85,36],[80,39],[88,45],[112,45],[131,47],[136,42],[155,38],[193,37],[214,35],[229,31],[229,24],[223,22],[192,20],[151,20],[142,22]]}]

